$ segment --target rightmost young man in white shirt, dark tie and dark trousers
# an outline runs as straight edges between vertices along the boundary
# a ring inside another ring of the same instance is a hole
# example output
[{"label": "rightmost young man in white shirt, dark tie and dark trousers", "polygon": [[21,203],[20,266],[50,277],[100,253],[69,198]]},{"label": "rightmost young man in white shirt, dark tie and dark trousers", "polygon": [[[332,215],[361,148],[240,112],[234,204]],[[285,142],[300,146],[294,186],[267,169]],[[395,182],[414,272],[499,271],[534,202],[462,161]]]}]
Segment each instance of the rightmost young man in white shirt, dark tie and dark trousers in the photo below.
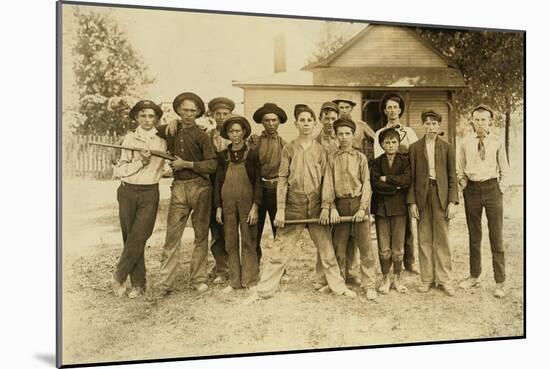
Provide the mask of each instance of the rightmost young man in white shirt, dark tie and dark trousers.
[{"label": "rightmost young man in white shirt, dark tie and dark trousers", "polygon": [[504,245],[502,243],[502,195],[507,188],[508,160],[503,140],[491,133],[494,112],[487,105],[472,110],[475,134],[466,137],[459,151],[458,183],[464,194],[464,208],[470,239],[470,277],[461,288],[476,287],[481,276],[481,214],[485,208],[496,281],[494,296],[505,295]]}]

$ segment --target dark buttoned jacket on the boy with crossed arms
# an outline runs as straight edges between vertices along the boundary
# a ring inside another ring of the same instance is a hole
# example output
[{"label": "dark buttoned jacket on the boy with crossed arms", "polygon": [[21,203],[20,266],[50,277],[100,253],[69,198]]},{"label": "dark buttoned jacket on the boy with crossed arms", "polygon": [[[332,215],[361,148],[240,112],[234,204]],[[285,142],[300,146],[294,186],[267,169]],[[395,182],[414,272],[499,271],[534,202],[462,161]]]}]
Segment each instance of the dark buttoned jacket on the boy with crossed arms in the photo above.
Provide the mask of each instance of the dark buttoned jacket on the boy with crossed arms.
[{"label": "dark buttoned jacket on the boy with crossed arms", "polygon": [[[395,154],[390,168],[388,157],[382,154],[372,161],[371,167],[372,213],[389,217],[406,215],[407,188],[411,183],[411,169],[406,155]],[[380,177],[386,176],[386,182]]]}]

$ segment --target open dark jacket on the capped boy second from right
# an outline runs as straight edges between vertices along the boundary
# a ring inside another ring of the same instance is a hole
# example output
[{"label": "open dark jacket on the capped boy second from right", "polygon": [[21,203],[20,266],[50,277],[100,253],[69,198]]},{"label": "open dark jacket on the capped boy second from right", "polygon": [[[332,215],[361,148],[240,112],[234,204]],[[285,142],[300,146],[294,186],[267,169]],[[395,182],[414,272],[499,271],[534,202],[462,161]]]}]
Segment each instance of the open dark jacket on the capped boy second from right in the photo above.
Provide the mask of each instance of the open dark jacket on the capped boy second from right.
[{"label": "open dark jacket on the capped boy second from right", "polygon": [[[434,153],[437,194],[441,208],[446,209],[449,203],[458,203],[455,151],[450,144],[438,137],[435,140]],[[422,210],[428,199],[430,179],[426,137],[409,147],[409,161],[413,180],[407,193],[407,204],[416,204],[418,210]]]}]

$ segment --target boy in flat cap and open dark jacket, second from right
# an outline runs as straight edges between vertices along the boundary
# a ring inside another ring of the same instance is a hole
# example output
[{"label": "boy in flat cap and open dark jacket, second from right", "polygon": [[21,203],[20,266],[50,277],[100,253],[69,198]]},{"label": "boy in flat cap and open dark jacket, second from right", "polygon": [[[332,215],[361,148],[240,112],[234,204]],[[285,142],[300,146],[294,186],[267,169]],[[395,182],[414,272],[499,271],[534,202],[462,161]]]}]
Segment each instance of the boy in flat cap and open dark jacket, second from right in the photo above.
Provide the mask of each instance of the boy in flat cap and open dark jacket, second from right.
[{"label": "boy in flat cap and open dark jacket, second from right", "polygon": [[418,222],[418,291],[428,292],[433,284],[454,296],[448,228],[458,204],[455,153],[439,138],[441,115],[425,110],[421,119],[425,135],[409,147],[412,182],[407,193],[411,217]]}]

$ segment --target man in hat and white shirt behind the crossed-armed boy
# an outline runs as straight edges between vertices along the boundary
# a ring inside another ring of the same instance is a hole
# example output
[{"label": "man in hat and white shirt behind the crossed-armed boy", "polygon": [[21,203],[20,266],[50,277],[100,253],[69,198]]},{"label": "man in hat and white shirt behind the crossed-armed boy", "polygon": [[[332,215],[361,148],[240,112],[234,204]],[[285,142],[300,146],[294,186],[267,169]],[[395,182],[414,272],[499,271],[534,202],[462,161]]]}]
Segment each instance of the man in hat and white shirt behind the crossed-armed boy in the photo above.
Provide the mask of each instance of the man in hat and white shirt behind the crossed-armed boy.
[{"label": "man in hat and white shirt behind the crossed-armed boy", "polygon": [[[411,127],[404,125],[401,122],[401,116],[405,112],[405,100],[401,95],[395,92],[389,92],[380,99],[380,116],[386,117],[387,123],[384,127],[376,131],[376,139],[374,140],[374,157],[377,158],[384,153],[382,146],[378,142],[378,136],[386,128],[394,128],[399,133],[401,138],[398,152],[407,154],[409,146],[418,141],[416,133]],[[407,212],[408,213],[408,212]],[[403,264],[405,270],[419,274],[418,268],[414,263],[414,236],[412,233],[412,222],[410,214],[407,214],[405,222],[405,245],[404,245]]]}]

